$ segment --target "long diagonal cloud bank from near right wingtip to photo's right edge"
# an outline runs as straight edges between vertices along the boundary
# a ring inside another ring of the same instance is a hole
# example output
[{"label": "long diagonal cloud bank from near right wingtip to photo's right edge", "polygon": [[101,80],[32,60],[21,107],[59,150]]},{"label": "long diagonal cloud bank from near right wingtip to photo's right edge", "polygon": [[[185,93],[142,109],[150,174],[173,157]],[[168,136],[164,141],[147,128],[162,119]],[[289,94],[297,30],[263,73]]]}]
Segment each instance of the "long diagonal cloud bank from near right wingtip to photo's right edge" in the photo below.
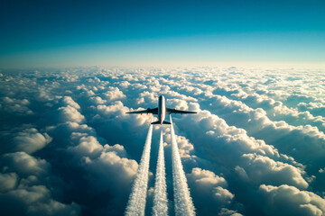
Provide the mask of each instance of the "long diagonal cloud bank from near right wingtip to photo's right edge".
[{"label": "long diagonal cloud bank from near right wingtip to photo's right edge", "polygon": [[[219,117],[229,124],[245,129],[248,135],[265,140],[267,144],[280,149],[283,154],[293,156],[298,162],[306,163],[309,161],[306,156],[312,154],[315,158],[312,166],[321,166],[323,163],[325,149],[322,146],[325,137],[317,127],[292,126],[285,121],[271,121],[265,110],[252,109],[245,103],[230,100],[226,96],[215,95],[211,97],[211,102]],[[309,153],[305,154],[306,151]]]}]

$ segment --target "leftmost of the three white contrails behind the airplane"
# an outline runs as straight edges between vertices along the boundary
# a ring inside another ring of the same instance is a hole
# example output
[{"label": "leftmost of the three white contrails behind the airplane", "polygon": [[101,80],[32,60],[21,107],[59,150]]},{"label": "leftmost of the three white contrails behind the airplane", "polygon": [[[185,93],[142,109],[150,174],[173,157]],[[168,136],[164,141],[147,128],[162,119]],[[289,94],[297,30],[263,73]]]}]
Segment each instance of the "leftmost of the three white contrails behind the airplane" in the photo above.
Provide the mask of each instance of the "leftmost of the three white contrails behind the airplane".
[{"label": "leftmost of the three white contrails behind the airplane", "polygon": [[135,183],[130,194],[125,215],[144,215],[145,200],[147,195],[150,149],[153,136],[153,125],[149,127],[148,135],[145,139],[144,152],[141,157],[140,165],[135,175]]}]

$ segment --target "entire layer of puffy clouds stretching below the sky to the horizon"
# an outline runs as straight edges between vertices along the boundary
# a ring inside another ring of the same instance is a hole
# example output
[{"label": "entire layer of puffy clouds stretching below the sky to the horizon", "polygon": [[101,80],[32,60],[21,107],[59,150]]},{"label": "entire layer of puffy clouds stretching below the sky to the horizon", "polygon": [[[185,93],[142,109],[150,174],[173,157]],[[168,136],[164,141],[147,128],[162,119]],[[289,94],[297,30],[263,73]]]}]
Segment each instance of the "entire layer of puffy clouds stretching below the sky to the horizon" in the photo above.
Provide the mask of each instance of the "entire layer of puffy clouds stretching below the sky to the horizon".
[{"label": "entire layer of puffy clouds stretching below the sky to the horizon", "polygon": [[[163,94],[167,106],[198,112],[173,116],[198,215],[324,215],[323,73],[241,67],[2,71],[0,211],[123,214],[151,121],[125,112],[156,107]],[[149,206],[159,135],[154,126]],[[168,127],[163,135],[171,209]]]}]

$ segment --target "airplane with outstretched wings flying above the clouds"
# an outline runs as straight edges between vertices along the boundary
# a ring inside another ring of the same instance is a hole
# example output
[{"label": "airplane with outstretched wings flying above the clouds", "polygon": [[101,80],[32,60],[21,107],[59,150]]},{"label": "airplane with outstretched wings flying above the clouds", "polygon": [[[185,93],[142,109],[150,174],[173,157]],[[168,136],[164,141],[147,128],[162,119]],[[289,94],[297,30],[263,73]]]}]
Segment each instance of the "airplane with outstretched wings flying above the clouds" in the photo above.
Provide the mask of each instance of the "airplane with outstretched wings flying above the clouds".
[{"label": "airplane with outstretched wings flying above the clouds", "polygon": [[153,108],[153,109],[146,109],[142,111],[135,111],[135,112],[126,112],[130,114],[143,114],[143,113],[153,113],[158,115],[158,121],[152,122],[152,124],[171,124],[169,121],[165,121],[166,114],[171,114],[171,113],[181,113],[181,114],[190,114],[190,113],[196,113],[196,112],[190,112],[190,111],[181,111],[181,110],[175,110],[171,108],[167,108],[165,104],[165,99],[164,96],[161,95],[159,96],[159,101],[158,101],[158,107]]}]

